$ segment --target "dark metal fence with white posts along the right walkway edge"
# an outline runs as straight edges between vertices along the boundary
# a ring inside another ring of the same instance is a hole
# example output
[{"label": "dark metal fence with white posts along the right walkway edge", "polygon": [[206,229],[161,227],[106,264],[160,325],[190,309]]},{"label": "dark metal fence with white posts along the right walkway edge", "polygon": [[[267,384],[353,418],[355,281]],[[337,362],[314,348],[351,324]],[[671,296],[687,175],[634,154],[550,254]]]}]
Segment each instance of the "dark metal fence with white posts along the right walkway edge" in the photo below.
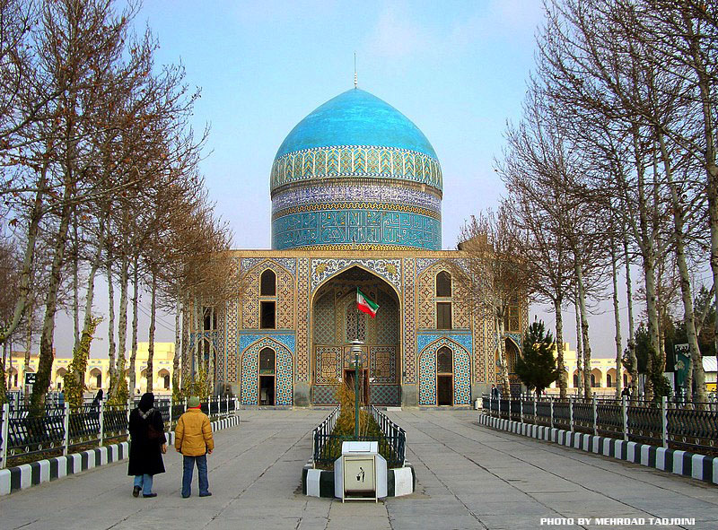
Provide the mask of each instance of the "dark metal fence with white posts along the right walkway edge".
[{"label": "dark metal fence with white posts along the right walkway edge", "polygon": [[587,432],[609,438],[718,454],[718,402],[661,402],[579,397],[483,395],[484,413],[497,418]]}]

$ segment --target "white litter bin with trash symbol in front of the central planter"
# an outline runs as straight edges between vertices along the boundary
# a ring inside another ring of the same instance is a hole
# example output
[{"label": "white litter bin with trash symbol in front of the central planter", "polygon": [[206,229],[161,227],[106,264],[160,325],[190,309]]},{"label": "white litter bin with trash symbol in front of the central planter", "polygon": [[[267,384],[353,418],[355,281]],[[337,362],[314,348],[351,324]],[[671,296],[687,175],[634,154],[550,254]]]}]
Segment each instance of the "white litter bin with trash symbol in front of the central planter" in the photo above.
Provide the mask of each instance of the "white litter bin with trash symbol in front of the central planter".
[{"label": "white litter bin with trash symbol in front of the central planter", "polygon": [[374,500],[387,495],[387,462],[379,442],[342,442],[334,463],[334,496],[345,500]]}]

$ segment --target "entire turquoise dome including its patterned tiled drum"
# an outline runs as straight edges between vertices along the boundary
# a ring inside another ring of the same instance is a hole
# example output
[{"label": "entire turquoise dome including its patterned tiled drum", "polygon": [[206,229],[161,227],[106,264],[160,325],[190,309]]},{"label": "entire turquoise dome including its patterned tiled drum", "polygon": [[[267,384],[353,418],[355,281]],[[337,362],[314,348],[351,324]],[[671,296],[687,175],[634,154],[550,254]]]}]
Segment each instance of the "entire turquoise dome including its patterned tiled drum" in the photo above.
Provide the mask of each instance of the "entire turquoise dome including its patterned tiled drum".
[{"label": "entire turquoise dome including its patterned tiled drum", "polygon": [[271,173],[272,248],[439,250],[442,169],[397,109],[353,89],[302,119]]}]

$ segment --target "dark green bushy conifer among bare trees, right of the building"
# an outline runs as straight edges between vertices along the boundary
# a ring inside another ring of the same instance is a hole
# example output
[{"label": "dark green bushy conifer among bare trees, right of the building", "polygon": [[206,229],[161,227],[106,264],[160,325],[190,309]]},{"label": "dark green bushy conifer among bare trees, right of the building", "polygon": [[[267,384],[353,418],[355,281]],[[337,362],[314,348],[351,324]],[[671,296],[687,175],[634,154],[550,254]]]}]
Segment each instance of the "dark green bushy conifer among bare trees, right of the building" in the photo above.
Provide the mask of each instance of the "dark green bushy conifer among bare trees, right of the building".
[{"label": "dark green bushy conifer among bare trees, right of the building", "polygon": [[516,360],[516,375],[537,395],[558,378],[555,349],[554,337],[542,320],[529,326],[523,337],[522,357]]}]

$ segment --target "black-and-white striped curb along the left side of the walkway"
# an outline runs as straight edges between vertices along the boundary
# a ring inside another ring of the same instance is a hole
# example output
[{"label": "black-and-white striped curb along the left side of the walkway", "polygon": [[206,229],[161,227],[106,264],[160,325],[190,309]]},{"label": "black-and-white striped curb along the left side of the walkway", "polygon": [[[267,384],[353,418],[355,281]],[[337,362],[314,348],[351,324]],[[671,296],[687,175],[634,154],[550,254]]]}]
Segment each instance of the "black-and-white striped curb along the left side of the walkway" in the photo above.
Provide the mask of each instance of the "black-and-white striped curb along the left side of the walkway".
[{"label": "black-and-white striped curb along the left side of the walkway", "polygon": [[[233,415],[212,421],[212,431],[227,429],[240,424],[240,416]],[[167,444],[174,444],[174,431],[166,432]],[[57,456],[30,464],[0,469],[0,496],[13,491],[25,490],[43,482],[55,481],[68,474],[79,474],[93,467],[125,460],[129,456],[129,444],[120,442],[111,446],[96,447],[82,453]]]}]

